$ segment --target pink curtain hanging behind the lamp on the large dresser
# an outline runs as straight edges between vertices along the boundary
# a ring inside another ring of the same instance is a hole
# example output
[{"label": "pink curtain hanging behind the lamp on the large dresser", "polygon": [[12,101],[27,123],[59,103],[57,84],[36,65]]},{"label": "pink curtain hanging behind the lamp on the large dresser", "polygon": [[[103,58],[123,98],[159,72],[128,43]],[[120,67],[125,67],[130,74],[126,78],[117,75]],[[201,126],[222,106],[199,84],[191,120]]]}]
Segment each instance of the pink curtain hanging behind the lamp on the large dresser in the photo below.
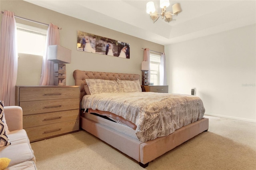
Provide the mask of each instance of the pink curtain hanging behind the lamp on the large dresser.
[{"label": "pink curtain hanging behind the lamp on the large dresser", "polygon": [[46,36],[46,50],[43,57],[42,71],[39,85],[54,85],[54,62],[48,60],[47,51],[49,45],[60,45],[60,33],[58,26],[50,23]]}]

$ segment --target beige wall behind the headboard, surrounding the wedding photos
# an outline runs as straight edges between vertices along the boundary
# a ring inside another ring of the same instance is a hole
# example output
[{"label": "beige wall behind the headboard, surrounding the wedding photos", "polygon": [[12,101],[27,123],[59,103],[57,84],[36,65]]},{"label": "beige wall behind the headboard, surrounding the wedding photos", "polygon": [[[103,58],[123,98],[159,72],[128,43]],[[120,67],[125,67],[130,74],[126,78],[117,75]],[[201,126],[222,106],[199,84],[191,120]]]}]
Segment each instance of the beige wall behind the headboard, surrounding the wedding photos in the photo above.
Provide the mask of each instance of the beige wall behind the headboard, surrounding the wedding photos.
[{"label": "beige wall behind the headboard, surrounding the wedding photos", "polygon": [[[30,4],[24,1],[10,1],[10,0],[1,0],[0,9],[2,11],[9,10],[14,12],[16,16],[21,16],[31,20],[36,20],[39,22],[47,23],[50,22],[61,27],[60,30],[60,45],[72,50],[72,60],[70,64],[66,64],[67,67],[67,81],[66,85],[74,85],[73,71],[75,69],[87,70],[87,71],[104,71],[104,72],[116,72],[116,73],[136,73],[141,75],[140,67],[143,60],[143,50],[142,47],[148,47],[154,51],[164,51],[164,45],[157,43],[149,42],[136,38],[127,34],[116,32],[102,26],[91,24],[34,4]],[[1,16],[2,17],[2,16]],[[90,17],[90,16],[88,16]],[[28,22],[25,20],[20,20],[16,18],[16,22],[21,24],[26,24],[30,26],[35,26],[47,30],[47,26],[42,26],[40,24],[35,24],[33,22]],[[118,58],[113,56],[100,55],[95,53],[86,53],[76,50],[76,41],[77,41],[77,31],[83,31],[97,36],[102,36],[106,38],[111,38],[114,40],[119,40],[122,42],[130,43],[130,59]],[[31,57],[31,56],[30,56]],[[24,58],[25,59],[25,58]],[[19,59],[20,61],[21,59]],[[27,63],[27,65],[36,65],[35,67],[41,68],[42,61],[26,60],[20,64]],[[24,66],[22,72],[28,72],[26,66]],[[38,71],[38,70],[37,70]],[[17,85],[38,85],[35,84],[34,80],[38,80],[38,75],[34,74],[31,77],[27,77],[26,73],[18,75]],[[40,73],[39,73],[40,75]],[[22,79],[33,79],[26,81],[27,84],[20,80]],[[30,82],[30,83],[28,83]]]}]

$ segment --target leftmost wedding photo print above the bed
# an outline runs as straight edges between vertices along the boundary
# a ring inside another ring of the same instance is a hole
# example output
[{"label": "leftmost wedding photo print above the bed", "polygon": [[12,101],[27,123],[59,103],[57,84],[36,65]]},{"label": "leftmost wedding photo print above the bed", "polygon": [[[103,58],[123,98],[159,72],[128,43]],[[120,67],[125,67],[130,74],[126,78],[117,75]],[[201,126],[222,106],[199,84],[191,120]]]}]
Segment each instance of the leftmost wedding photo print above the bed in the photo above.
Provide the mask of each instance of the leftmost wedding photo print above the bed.
[{"label": "leftmost wedding photo print above the bed", "polygon": [[77,50],[89,53],[96,52],[96,36],[86,32],[77,31]]}]

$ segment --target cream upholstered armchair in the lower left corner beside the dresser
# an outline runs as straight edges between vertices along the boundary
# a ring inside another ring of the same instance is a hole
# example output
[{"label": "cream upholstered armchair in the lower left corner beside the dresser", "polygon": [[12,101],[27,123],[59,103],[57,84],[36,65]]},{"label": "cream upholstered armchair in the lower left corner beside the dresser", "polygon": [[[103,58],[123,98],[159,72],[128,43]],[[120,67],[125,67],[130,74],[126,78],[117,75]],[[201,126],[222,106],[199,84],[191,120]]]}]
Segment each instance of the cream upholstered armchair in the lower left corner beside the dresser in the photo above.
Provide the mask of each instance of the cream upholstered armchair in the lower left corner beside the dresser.
[{"label": "cream upholstered armchair in the lower left corner beside the dresser", "polygon": [[0,158],[10,159],[10,163],[6,165],[8,170],[36,170],[34,151],[26,131],[22,129],[22,114],[19,106],[4,107],[6,124],[10,131],[7,136],[11,144],[0,147]]}]

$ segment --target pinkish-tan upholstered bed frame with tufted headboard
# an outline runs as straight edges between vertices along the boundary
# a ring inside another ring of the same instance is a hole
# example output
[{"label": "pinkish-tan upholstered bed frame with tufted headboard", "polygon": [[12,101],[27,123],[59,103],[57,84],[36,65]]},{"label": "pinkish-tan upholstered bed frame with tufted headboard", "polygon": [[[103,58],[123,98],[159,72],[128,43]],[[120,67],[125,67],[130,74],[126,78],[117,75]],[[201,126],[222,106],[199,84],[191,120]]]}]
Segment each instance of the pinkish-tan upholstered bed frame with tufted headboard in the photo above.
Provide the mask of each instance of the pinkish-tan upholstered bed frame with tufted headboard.
[{"label": "pinkish-tan upholstered bed frame with tufted headboard", "polygon": [[[105,79],[105,80],[138,80],[138,74],[124,73],[105,73],[95,71],[75,70],[73,73],[75,85],[80,86],[80,99],[86,94],[84,85],[85,79]],[[144,92],[142,92],[144,93]],[[176,146],[186,142],[190,138],[208,130],[208,119],[203,118],[199,121],[175,130],[172,134],[148,142],[141,142],[122,134],[112,128],[106,127],[85,117],[80,118],[80,127],[94,136],[100,138],[104,142],[110,144],[114,148],[120,150],[124,154],[130,156],[140,163],[140,166],[147,167],[148,163],[162,154],[172,150]]]}]

